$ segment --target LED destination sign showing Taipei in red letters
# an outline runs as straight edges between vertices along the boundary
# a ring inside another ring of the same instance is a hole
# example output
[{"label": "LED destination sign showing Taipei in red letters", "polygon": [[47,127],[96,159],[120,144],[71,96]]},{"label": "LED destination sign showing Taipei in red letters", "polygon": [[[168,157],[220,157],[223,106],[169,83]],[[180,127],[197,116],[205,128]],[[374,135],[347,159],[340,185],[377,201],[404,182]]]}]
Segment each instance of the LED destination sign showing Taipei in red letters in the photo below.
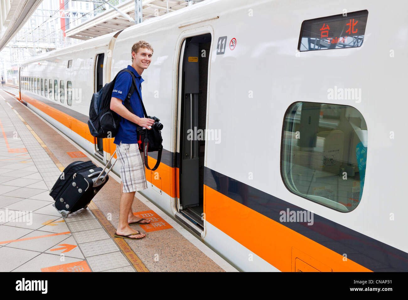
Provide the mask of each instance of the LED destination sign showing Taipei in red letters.
[{"label": "LED destination sign showing Taipei in red letters", "polygon": [[299,51],[360,47],[366,31],[368,11],[336,15],[302,23]]}]

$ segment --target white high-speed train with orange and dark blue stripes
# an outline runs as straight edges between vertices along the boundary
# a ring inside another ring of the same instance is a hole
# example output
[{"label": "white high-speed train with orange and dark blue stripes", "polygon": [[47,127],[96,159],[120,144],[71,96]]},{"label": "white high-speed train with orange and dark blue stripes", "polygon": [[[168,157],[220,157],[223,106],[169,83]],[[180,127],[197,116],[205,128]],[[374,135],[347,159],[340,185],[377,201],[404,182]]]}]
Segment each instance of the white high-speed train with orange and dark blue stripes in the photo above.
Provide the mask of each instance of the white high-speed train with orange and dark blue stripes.
[{"label": "white high-speed train with orange and dark blue stripes", "polygon": [[19,99],[106,163],[90,99],[146,40],[164,125],[146,198],[242,271],[408,271],[408,2],[391,2],[206,0],[24,62]]}]

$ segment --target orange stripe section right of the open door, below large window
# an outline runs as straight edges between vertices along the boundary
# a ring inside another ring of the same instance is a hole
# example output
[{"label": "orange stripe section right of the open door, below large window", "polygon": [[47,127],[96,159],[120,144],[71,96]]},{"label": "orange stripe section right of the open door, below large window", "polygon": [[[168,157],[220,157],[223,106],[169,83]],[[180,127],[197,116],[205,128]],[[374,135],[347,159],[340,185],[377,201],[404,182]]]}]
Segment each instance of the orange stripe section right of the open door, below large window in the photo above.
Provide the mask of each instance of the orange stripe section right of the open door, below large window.
[{"label": "orange stripe section right of the open door, below large window", "polygon": [[206,220],[280,271],[295,271],[296,258],[319,271],[370,271],[211,187],[204,191]]}]

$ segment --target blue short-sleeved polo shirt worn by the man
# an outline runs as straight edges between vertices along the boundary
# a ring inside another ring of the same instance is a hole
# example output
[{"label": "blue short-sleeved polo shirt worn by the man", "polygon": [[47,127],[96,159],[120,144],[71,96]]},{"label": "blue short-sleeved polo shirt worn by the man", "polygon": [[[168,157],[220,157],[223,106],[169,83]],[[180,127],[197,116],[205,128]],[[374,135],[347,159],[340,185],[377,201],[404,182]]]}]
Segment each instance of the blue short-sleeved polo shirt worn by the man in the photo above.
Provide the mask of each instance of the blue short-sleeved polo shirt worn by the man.
[{"label": "blue short-sleeved polo shirt worn by the man", "polygon": [[[133,74],[135,74],[137,88],[139,89],[140,97],[142,97],[141,84],[144,81],[142,76],[140,76],[130,65],[128,65],[126,69],[132,71]],[[120,73],[118,77],[116,77],[112,97],[122,100],[122,105],[124,105],[124,100],[129,93],[131,84],[132,76],[127,72]],[[140,103],[139,96],[137,96],[137,91],[134,91],[132,96],[130,97],[130,104],[135,115],[140,118],[144,118],[142,104]],[[119,131],[116,134],[115,140],[113,142],[117,145],[120,144],[120,142],[124,144],[137,144],[136,124],[122,117],[119,124]]]}]

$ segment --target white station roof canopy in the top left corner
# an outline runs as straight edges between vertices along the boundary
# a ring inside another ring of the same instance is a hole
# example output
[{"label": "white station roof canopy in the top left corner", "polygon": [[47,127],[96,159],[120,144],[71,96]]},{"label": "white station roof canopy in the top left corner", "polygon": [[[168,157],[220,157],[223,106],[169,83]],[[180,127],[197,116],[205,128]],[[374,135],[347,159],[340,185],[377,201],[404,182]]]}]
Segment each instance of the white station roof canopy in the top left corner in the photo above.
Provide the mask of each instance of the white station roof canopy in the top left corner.
[{"label": "white station roof canopy in the top left corner", "polygon": [[0,51],[29,20],[42,0],[0,0]]}]

